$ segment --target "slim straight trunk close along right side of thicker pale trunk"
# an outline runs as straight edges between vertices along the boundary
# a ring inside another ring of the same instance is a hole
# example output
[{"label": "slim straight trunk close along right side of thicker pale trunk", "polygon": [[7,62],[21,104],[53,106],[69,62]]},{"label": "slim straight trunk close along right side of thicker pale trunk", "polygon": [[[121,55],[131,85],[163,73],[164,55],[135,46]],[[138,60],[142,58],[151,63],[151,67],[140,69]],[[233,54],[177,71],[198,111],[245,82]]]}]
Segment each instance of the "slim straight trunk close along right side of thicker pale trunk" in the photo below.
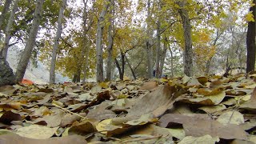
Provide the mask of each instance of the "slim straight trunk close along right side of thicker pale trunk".
[{"label": "slim straight trunk close along right side of thicker pale trunk", "polygon": [[111,78],[111,72],[112,72],[112,57],[113,57],[113,37],[114,37],[114,19],[111,18],[114,15],[114,0],[111,0],[111,6],[110,6],[110,26],[108,30],[108,46],[107,46],[107,60],[106,60],[106,80],[110,81]]}]

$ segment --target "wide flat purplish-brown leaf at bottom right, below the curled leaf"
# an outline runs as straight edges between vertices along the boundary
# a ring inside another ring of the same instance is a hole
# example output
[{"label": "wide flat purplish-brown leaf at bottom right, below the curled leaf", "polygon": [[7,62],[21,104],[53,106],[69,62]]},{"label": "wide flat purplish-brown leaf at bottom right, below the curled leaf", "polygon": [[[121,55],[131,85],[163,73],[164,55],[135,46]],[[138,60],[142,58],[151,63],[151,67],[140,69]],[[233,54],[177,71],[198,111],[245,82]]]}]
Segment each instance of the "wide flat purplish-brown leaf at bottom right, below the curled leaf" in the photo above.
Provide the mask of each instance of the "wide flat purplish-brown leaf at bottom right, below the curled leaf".
[{"label": "wide flat purplish-brown leaf at bottom right, below the curled leaf", "polygon": [[[194,116],[193,116],[194,115]],[[246,139],[246,132],[242,127],[234,124],[223,125],[210,118],[203,118],[198,114],[165,114],[159,120],[160,126],[168,126],[170,123],[182,124],[187,136],[202,137],[210,134],[212,137],[224,139]]]}]

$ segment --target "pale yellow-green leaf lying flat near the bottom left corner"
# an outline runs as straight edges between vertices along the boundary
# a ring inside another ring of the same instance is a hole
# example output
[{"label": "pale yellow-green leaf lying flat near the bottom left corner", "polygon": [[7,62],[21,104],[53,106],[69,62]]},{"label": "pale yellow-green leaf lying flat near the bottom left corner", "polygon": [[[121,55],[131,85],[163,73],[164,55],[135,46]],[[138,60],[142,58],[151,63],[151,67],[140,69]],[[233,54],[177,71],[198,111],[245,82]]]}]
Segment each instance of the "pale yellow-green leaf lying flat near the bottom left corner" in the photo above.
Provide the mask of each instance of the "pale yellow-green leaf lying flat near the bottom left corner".
[{"label": "pale yellow-green leaf lying flat near the bottom left corner", "polygon": [[47,126],[30,125],[19,128],[16,134],[26,138],[46,139],[52,137],[56,130],[58,130],[58,127],[49,128]]}]

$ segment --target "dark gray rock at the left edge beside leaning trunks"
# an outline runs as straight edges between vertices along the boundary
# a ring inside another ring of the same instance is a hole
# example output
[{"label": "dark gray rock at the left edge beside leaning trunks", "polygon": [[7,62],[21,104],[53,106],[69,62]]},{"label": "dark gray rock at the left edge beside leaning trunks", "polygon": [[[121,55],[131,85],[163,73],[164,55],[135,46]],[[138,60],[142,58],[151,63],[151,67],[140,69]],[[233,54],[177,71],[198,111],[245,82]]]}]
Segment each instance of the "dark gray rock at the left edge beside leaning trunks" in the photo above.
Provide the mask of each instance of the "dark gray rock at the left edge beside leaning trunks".
[{"label": "dark gray rock at the left edge beside leaning trunks", "polygon": [[14,85],[15,75],[8,62],[0,56],[0,86]]}]

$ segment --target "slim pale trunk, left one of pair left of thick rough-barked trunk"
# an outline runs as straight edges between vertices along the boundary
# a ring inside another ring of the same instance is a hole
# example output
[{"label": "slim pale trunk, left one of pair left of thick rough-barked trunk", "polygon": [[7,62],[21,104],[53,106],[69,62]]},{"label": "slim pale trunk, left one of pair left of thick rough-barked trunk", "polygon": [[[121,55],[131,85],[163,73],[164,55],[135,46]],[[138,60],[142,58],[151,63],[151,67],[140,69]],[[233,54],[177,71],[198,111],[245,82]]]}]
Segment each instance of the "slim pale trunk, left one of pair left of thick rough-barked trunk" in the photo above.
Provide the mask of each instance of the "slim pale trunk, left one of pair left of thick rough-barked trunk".
[{"label": "slim pale trunk, left one of pair left of thick rough-barked trunk", "polygon": [[153,55],[153,47],[151,42],[152,37],[152,30],[150,30],[150,18],[151,18],[151,12],[150,12],[150,0],[147,1],[147,18],[146,18],[146,54],[147,54],[147,74],[148,78],[153,78],[153,61],[152,61],[152,55]]}]

